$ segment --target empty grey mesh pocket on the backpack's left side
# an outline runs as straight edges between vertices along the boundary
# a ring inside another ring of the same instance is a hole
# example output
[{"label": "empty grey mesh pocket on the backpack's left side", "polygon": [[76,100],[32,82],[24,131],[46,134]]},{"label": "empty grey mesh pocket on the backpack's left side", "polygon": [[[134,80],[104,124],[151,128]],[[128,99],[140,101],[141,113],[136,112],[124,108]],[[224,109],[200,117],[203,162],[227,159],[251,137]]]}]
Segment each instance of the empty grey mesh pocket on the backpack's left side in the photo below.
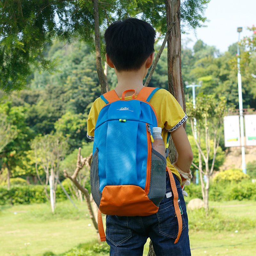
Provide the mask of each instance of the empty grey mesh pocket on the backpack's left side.
[{"label": "empty grey mesh pocket on the backpack's left side", "polygon": [[100,180],[99,180],[99,172],[98,172],[98,148],[92,157],[91,171],[90,171],[90,182],[91,182],[91,191],[92,198],[97,204],[98,208],[100,207],[100,200],[102,194],[100,192]]}]

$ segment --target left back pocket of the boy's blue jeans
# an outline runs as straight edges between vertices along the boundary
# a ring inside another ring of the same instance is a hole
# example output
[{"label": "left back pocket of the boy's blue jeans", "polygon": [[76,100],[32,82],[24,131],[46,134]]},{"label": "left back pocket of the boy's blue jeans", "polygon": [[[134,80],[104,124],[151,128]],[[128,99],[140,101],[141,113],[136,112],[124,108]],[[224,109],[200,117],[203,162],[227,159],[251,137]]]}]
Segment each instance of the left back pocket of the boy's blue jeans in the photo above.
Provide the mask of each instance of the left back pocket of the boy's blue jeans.
[{"label": "left back pocket of the boy's blue jeans", "polygon": [[115,246],[124,243],[132,237],[132,231],[128,228],[127,216],[107,215],[106,239]]}]

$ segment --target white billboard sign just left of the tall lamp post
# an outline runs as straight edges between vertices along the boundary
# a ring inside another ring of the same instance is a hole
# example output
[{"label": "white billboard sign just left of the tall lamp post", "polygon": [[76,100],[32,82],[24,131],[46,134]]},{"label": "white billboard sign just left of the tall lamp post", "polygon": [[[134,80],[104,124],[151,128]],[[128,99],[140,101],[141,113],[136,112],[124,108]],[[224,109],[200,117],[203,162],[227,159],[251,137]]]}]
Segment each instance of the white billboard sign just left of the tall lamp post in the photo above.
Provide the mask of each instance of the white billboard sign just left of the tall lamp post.
[{"label": "white billboard sign just left of the tall lamp post", "polygon": [[240,125],[239,116],[224,116],[225,147],[239,147]]}]

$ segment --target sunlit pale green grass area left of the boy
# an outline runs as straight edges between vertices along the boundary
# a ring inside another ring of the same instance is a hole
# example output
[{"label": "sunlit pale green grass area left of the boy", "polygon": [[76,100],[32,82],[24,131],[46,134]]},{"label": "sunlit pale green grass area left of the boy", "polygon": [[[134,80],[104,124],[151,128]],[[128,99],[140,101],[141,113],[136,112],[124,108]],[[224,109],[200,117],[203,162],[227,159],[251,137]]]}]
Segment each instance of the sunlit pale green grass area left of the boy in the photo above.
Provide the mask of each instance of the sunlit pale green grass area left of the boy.
[{"label": "sunlit pale green grass area left of the boy", "polygon": [[2,206],[0,209],[1,255],[36,256],[46,251],[63,253],[77,244],[97,239],[86,204],[57,203]]}]

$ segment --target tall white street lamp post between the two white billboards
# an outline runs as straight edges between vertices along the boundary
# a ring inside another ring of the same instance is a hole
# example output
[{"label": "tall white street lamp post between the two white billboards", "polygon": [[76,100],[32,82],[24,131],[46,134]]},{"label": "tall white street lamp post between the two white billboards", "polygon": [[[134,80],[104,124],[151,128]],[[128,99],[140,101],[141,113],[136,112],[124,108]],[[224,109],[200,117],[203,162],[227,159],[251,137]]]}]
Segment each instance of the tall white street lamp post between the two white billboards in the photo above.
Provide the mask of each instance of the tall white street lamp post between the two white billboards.
[{"label": "tall white street lamp post between the two white billboards", "polygon": [[240,72],[240,33],[243,28],[237,28],[238,32],[238,42],[237,42],[237,82],[238,82],[238,99],[239,99],[239,116],[240,116],[240,136],[241,136],[241,153],[242,153],[242,170],[246,173],[246,164],[245,164],[245,150],[244,150],[244,116],[243,116],[243,96],[242,96],[242,79]]}]

